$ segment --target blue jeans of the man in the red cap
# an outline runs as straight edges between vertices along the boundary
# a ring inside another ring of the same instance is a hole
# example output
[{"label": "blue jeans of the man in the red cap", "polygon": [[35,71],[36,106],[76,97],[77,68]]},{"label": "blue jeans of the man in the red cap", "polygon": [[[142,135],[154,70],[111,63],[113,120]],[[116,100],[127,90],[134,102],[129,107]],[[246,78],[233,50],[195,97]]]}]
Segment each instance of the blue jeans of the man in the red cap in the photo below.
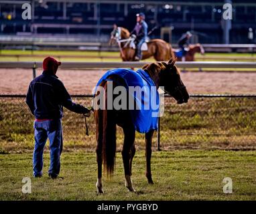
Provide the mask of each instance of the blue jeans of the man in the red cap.
[{"label": "blue jeans of the man in the red cap", "polygon": [[60,173],[60,154],[62,152],[62,122],[61,120],[35,121],[35,148],[33,154],[34,177],[42,175],[43,153],[47,138],[50,141],[50,169],[48,173]]}]

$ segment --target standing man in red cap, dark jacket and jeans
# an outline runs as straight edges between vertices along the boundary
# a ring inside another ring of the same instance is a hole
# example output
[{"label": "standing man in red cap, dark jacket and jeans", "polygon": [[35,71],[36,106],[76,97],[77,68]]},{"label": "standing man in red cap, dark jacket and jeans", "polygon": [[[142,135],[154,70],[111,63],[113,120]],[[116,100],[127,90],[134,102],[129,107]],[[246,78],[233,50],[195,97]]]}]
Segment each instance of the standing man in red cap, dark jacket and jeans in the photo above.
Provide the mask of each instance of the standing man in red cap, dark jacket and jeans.
[{"label": "standing man in red cap, dark jacket and jeans", "polygon": [[43,74],[29,84],[27,91],[26,103],[36,118],[34,122],[34,177],[42,177],[43,152],[47,138],[50,140],[49,176],[56,179],[60,173],[63,106],[78,114],[90,112],[88,108],[72,102],[64,84],[58,80],[56,72],[60,64],[51,57],[44,59]]}]

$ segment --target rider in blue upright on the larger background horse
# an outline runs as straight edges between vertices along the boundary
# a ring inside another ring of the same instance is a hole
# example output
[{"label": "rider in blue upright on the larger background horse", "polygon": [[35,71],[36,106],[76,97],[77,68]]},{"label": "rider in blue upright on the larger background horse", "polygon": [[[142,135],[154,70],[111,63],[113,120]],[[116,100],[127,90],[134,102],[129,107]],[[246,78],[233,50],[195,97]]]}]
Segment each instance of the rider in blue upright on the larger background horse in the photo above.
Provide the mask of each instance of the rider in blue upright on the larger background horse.
[{"label": "rider in blue upright on the larger background horse", "polygon": [[136,23],[133,31],[131,31],[131,34],[136,35],[137,51],[136,51],[135,60],[139,61],[142,58],[141,45],[145,42],[145,40],[147,38],[147,23],[145,22],[145,14],[144,13],[138,13],[138,14],[136,14],[136,16],[137,16],[137,23]]}]

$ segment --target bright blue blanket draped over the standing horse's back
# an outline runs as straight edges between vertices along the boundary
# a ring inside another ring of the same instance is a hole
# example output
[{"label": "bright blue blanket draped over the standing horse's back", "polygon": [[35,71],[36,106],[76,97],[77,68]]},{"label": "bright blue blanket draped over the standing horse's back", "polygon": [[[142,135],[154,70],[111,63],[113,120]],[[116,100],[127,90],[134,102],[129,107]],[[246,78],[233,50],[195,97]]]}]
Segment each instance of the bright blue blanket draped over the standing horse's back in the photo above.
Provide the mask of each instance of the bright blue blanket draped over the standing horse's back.
[{"label": "bright blue blanket draped over the standing horse's back", "polygon": [[[157,130],[159,94],[155,87],[155,83],[153,80],[151,80],[149,74],[141,69],[137,70],[136,72],[124,68],[109,70],[99,80],[97,86],[99,86],[99,84],[101,84],[103,81],[113,81],[108,79],[109,76],[113,74],[124,80],[126,92],[128,92],[129,95],[134,98],[137,105],[136,109],[129,108],[135,130],[140,133],[146,133],[149,132],[149,130]],[[134,90],[134,87],[135,89],[141,88],[143,90],[141,90],[141,93],[139,93],[137,90]],[[96,92],[96,90],[97,87],[94,92]]]}]

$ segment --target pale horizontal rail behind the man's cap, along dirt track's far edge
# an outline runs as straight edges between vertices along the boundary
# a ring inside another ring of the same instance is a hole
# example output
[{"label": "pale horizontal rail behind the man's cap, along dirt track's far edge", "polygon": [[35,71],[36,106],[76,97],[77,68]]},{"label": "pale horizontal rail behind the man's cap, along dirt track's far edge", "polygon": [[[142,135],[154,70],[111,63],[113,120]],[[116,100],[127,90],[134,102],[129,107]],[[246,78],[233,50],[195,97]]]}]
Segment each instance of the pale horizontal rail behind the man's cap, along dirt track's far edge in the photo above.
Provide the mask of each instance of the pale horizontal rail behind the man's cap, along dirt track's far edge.
[{"label": "pale horizontal rail behind the man's cap, along dirt track's far edge", "polygon": [[[63,62],[62,69],[96,69],[96,68],[141,68],[151,62]],[[176,66],[186,68],[256,68],[256,62],[176,62]],[[42,62],[0,62],[0,68],[42,68]]]}]

